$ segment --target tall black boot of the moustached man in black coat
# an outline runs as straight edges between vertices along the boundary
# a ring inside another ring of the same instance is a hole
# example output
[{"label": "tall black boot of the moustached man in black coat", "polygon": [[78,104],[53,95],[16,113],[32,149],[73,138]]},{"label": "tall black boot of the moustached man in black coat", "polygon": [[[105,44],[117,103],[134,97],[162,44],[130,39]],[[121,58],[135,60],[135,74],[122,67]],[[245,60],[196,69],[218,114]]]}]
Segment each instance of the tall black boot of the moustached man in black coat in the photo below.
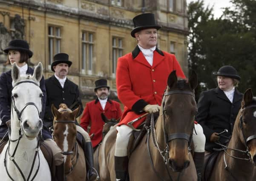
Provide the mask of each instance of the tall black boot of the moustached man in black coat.
[{"label": "tall black boot of the moustached man in black coat", "polygon": [[97,171],[93,168],[93,150],[92,150],[92,142],[86,142],[84,144],[84,156],[86,158],[86,168],[87,168],[87,176],[89,181],[94,181],[98,178]]}]

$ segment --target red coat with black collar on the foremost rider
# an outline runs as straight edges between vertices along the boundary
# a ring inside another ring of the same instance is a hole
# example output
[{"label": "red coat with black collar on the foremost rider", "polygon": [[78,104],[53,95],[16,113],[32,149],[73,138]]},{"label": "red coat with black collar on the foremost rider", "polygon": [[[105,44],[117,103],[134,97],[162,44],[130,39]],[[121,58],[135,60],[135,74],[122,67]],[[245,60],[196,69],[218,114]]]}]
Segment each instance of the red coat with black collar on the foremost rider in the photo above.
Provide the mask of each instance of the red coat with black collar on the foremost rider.
[{"label": "red coat with black collar on the foremost rider", "polygon": [[[170,72],[185,78],[175,55],[158,50],[154,51],[151,66],[137,46],[132,53],[118,58],[116,70],[116,87],[119,100],[124,104],[118,125],[127,124],[145,114],[142,110],[147,104],[161,105],[167,79]],[[137,128],[145,120],[142,118],[133,123]]]}]

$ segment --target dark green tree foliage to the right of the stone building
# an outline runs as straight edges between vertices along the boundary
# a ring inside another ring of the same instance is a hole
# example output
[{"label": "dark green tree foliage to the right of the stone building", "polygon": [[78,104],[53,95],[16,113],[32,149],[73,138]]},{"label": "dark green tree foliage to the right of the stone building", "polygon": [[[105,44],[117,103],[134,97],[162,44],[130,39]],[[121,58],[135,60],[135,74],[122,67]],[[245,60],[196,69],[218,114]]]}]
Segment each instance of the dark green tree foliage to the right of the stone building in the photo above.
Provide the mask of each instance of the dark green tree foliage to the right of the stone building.
[{"label": "dark green tree foliage to the right of the stone building", "polygon": [[203,0],[188,6],[188,62],[198,74],[197,99],[201,91],[216,87],[212,72],[224,65],[232,65],[242,77],[239,91],[256,92],[256,1],[232,3],[236,8],[226,8],[219,19],[213,18],[212,8],[204,8]]}]

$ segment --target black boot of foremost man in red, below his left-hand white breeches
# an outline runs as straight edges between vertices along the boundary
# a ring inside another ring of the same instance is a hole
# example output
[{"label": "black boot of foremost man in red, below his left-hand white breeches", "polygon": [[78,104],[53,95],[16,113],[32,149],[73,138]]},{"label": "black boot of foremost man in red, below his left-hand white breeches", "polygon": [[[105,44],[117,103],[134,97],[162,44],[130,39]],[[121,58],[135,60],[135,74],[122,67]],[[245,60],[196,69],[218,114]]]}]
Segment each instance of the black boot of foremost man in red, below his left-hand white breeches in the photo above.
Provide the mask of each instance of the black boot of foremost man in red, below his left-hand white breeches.
[{"label": "black boot of foremost man in red, below his left-hand white breeches", "polygon": [[128,156],[115,156],[115,178],[126,181],[128,173]]}]

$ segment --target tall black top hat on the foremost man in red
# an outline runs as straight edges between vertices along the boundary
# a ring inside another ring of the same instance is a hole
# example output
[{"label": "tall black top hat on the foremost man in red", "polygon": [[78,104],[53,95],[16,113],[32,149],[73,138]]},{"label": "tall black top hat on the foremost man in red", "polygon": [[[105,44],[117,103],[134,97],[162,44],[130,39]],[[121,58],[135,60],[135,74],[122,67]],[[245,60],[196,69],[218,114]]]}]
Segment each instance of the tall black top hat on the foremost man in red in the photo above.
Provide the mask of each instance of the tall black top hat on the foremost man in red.
[{"label": "tall black top hat on the foremost man in red", "polygon": [[138,31],[148,29],[148,28],[155,28],[159,30],[161,26],[157,25],[155,22],[155,15],[152,13],[145,13],[139,14],[138,16],[132,19],[134,28],[131,31],[132,37],[135,38],[135,33]]}]

